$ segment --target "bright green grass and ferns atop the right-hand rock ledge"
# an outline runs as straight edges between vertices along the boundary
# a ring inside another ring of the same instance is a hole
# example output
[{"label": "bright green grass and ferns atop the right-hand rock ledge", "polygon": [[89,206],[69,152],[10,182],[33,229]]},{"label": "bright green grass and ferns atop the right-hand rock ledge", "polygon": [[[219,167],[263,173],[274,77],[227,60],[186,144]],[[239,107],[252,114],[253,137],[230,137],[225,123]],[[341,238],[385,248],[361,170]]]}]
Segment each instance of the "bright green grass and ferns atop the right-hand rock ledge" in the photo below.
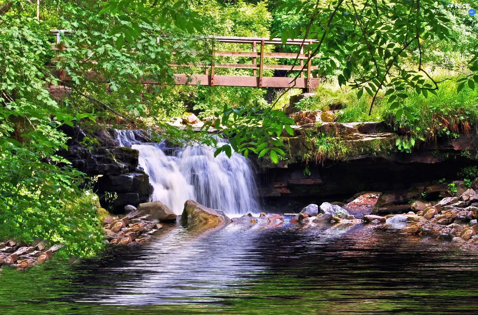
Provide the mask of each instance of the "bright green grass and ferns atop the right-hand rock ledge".
[{"label": "bright green grass and ferns atop the right-hand rock ledge", "polygon": [[446,80],[439,84],[436,95],[406,91],[407,98],[402,106],[406,106],[411,115],[396,117],[399,108],[390,109],[388,102],[391,95],[384,96],[380,91],[377,101],[369,115],[371,97],[364,93],[358,100],[357,90],[348,86],[341,89],[335,83],[328,82],[315,90],[315,96],[301,100],[297,107],[301,110],[331,110],[340,108],[337,121],[366,122],[385,121],[394,127],[398,134],[413,139],[413,142],[429,141],[437,136],[457,136],[468,133],[471,124],[478,117],[478,90],[465,87],[456,93],[456,79]]}]

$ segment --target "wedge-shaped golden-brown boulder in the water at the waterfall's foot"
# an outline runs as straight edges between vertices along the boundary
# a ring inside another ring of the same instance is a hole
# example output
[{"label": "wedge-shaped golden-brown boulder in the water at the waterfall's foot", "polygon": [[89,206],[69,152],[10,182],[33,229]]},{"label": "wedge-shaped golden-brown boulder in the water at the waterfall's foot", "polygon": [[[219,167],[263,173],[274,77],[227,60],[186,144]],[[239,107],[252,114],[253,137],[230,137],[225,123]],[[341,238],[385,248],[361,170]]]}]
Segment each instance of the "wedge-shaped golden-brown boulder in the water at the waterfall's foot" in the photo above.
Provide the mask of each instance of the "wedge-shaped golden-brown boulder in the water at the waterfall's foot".
[{"label": "wedge-shaped golden-brown boulder in the water at the waterfall's foot", "polygon": [[194,200],[187,200],[184,203],[181,223],[214,227],[218,225],[228,225],[231,223],[231,219],[220,210],[208,208]]}]

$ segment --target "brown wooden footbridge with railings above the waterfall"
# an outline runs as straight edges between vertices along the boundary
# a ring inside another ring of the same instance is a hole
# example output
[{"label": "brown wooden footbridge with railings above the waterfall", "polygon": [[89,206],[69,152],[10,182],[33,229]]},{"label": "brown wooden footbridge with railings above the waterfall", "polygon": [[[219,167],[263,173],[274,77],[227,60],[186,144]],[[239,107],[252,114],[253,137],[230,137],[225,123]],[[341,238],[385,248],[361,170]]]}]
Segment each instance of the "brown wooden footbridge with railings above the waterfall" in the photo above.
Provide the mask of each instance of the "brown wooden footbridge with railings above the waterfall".
[{"label": "brown wooden footbridge with railings above the waterfall", "polygon": [[[61,51],[65,49],[61,44],[61,34],[68,33],[65,30],[51,30],[56,36],[56,45],[52,49]],[[179,67],[202,67],[204,68],[204,74],[174,74],[175,84],[182,85],[207,85],[207,86],[238,86],[238,87],[257,87],[257,88],[298,88],[306,89],[311,92],[318,84],[317,78],[312,78],[311,71],[316,70],[319,67],[312,66],[311,52],[308,51],[304,54],[304,48],[314,43],[314,40],[309,39],[288,39],[285,44],[282,43],[280,38],[262,38],[262,37],[228,37],[228,36],[214,36],[211,37],[213,43],[235,43],[235,44],[249,44],[251,45],[251,51],[218,51],[215,46],[212,45],[212,56],[210,61],[203,63],[189,63],[189,64],[177,64],[171,63],[169,66]],[[265,45],[294,45],[300,47],[298,53],[266,53],[264,52]],[[57,54],[58,55],[58,54]],[[215,58],[218,56],[230,56],[230,57],[250,57],[252,58],[251,64],[233,64],[233,63],[218,63]],[[293,65],[272,65],[265,64],[265,58],[277,58],[291,60]],[[56,61],[56,60],[54,60]],[[305,63],[305,66],[304,66]],[[252,76],[224,76],[215,75],[216,68],[239,68],[239,69],[251,69]],[[286,73],[295,74],[291,77],[264,77],[264,69],[272,70],[285,70]],[[297,77],[297,71],[300,71],[300,75]],[[88,76],[95,77],[96,80],[101,80],[101,76],[89,73]],[[67,74],[60,71],[60,77],[62,80],[70,80]],[[297,77],[297,78],[295,78]],[[98,79],[99,78],[99,79]],[[140,83],[144,84],[159,84],[148,79],[140,79]]]}]

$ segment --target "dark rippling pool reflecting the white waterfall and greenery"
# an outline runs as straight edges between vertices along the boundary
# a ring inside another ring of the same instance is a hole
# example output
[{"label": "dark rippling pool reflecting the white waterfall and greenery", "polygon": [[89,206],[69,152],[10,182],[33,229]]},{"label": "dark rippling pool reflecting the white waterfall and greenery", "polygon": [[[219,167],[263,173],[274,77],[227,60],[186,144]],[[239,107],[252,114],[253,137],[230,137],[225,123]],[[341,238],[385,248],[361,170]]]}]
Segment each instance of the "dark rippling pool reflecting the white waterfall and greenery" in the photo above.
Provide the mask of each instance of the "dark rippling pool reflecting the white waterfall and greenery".
[{"label": "dark rippling pool reflecting the white waterfall and greenery", "polygon": [[165,226],[0,276],[0,314],[478,314],[478,255],[383,226]]}]

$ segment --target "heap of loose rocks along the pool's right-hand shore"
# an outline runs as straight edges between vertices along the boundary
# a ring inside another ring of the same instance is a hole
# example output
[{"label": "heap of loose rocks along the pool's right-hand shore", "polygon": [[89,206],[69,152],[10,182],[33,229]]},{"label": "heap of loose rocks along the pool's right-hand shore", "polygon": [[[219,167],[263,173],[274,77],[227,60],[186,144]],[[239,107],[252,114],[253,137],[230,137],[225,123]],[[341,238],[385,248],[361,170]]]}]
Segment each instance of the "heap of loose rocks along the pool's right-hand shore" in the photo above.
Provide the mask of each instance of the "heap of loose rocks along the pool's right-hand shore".
[{"label": "heap of loose rocks along the pool's right-hand shore", "polygon": [[[343,207],[324,202],[318,207],[310,204],[292,220],[293,224],[356,225],[374,224],[393,228],[402,227],[409,235],[430,236],[440,241],[451,241],[464,250],[478,251],[478,190],[467,189],[454,197],[445,197],[434,205],[415,201],[410,205],[414,211],[403,214],[365,214],[373,212],[379,201],[377,193],[358,196]],[[362,219],[356,215],[363,214]]]}]

